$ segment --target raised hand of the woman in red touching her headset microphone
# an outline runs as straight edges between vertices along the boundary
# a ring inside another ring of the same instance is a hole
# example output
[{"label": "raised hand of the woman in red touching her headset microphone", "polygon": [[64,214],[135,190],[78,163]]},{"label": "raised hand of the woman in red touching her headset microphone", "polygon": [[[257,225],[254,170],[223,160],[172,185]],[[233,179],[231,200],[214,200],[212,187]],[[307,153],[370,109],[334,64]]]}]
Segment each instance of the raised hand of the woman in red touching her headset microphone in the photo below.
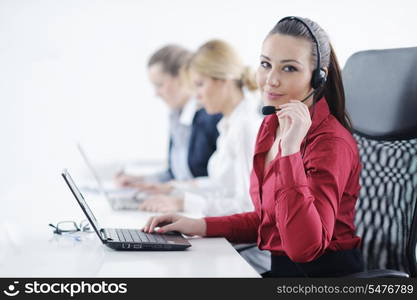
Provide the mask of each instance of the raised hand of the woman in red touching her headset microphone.
[{"label": "raised hand of the woman in red touching her headset microphone", "polygon": [[299,100],[279,106],[277,112],[279,126],[281,126],[281,156],[288,156],[300,151],[301,142],[311,126],[308,106]]}]

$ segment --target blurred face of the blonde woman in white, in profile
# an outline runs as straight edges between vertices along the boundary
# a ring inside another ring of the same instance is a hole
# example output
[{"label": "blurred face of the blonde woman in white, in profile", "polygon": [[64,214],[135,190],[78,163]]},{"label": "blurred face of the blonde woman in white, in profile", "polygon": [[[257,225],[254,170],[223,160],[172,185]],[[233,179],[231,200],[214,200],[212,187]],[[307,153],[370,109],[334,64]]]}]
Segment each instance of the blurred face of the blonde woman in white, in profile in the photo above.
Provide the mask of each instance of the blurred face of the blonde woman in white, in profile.
[{"label": "blurred face of the blonde woman in white, in profile", "polygon": [[213,79],[198,72],[191,72],[195,96],[204,106],[208,114],[221,113],[224,109],[225,81]]}]

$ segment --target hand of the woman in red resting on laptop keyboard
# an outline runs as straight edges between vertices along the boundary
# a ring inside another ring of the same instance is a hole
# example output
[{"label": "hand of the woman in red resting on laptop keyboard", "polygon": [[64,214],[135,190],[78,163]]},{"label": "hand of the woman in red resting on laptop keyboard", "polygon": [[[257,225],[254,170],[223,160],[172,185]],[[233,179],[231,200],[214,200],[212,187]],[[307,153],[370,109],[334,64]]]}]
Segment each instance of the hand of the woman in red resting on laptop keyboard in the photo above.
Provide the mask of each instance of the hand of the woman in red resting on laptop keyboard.
[{"label": "hand of the woman in red resting on laptop keyboard", "polygon": [[151,217],[142,229],[144,232],[152,233],[155,227],[159,227],[158,233],[179,231],[186,235],[206,235],[206,221],[204,219],[193,219],[176,214],[166,214]]}]

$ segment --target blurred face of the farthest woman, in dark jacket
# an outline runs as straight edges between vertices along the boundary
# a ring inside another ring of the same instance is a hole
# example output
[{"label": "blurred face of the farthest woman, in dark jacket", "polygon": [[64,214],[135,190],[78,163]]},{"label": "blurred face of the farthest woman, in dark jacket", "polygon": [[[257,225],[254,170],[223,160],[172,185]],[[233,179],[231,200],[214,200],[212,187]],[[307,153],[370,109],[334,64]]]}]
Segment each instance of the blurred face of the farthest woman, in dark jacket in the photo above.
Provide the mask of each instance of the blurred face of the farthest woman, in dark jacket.
[{"label": "blurred face of the farthest woman, in dark jacket", "polygon": [[149,67],[148,76],[156,95],[162,98],[171,109],[180,109],[185,105],[188,97],[178,76],[174,77],[164,72],[160,63]]}]

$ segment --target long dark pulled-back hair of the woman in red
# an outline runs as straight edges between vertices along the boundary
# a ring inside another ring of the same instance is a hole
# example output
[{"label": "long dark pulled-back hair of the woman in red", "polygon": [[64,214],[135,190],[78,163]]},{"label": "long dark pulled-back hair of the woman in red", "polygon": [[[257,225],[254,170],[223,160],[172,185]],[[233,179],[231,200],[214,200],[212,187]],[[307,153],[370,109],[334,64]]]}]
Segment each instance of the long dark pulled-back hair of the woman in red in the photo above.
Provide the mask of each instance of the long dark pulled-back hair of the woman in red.
[{"label": "long dark pulled-back hair of the woman in red", "polygon": [[[317,101],[324,96],[327,104],[329,105],[331,114],[340,122],[340,124],[343,125],[343,127],[352,132],[352,122],[345,107],[345,92],[343,88],[342,74],[329,37],[316,22],[307,18],[300,19],[310,27],[319,42],[321,58],[319,67],[328,68],[326,84],[316,92],[314,100]],[[304,38],[310,41],[312,49],[312,63],[314,69],[317,68],[316,46],[310,32],[304,24],[295,19],[287,19],[282,22],[278,22],[269,32],[268,36],[272,34],[284,34]]]}]

